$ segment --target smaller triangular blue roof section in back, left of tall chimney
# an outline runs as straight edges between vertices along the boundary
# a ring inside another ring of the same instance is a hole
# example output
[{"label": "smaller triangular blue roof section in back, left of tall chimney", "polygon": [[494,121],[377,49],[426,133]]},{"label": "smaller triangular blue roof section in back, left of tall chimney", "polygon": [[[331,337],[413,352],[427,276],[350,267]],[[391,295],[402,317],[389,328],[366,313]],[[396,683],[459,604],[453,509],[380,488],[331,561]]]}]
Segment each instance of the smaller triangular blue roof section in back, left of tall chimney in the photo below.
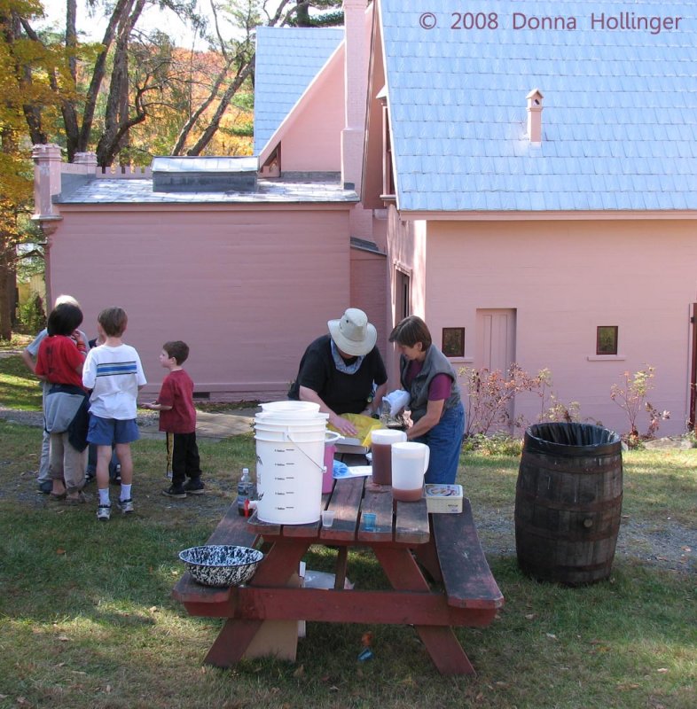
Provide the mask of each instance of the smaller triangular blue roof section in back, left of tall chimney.
[{"label": "smaller triangular blue roof section in back, left of tall chimney", "polygon": [[342,39],[342,27],[256,28],[255,155]]}]

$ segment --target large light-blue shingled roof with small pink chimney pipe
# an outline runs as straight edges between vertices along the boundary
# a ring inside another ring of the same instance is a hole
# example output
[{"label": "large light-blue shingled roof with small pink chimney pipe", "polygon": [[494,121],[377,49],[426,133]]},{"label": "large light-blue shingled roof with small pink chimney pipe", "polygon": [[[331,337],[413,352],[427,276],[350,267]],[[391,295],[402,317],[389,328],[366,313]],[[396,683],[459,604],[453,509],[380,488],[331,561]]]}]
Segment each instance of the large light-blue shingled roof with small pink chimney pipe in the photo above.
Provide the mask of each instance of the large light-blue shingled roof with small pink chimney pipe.
[{"label": "large light-blue shingled roof with small pink chimney pipe", "polygon": [[410,5],[380,0],[400,209],[697,209],[697,0]]}]

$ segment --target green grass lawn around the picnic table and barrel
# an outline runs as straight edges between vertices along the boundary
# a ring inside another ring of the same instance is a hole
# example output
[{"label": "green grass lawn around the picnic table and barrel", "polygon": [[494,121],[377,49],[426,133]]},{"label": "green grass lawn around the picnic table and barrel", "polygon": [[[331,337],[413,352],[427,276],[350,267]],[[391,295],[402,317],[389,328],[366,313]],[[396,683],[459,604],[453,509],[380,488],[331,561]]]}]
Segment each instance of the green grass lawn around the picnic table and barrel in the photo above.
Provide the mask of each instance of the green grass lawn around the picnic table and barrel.
[{"label": "green grass lawn around the picnic table and barrel", "polygon": [[[489,627],[456,630],[476,677],[438,675],[410,627],[324,623],[309,623],[294,664],[202,666],[221,621],[191,618],[171,598],[183,572],[176,555],[205,541],[234,499],[239,470],[253,468],[251,436],[201,441],[208,494],[182,501],[160,494],[162,442],[138,441],[136,513],[108,524],[94,502],[67,508],[35,493],[27,471],[40,429],[0,421],[0,440],[1,709],[697,705],[694,565],[639,557],[615,558],[606,582],[564,588],[523,576],[513,554],[489,553],[505,607]],[[693,528],[697,450],[631,451],[624,467],[626,518]],[[514,456],[463,456],[475,518],[510,518],[517,468]],[[333,552],[313,549],[307,562],[330,571]],[[349,578],[375,588],[380,570],[356,551]],[[366,630],[374,658],[359,662]]]}]

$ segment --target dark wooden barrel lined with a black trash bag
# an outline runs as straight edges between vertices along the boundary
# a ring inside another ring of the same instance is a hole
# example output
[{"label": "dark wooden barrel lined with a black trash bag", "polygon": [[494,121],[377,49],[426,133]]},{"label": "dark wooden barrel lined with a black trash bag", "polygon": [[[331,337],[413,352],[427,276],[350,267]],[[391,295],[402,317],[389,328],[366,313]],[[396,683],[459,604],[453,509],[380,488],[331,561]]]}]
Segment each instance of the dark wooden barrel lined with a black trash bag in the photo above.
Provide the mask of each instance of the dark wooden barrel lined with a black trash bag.
[{"label": "dark wooden barrel lined with a black trash bag", "polygon": [[622,441],[615,432],[586,424],[529,426],[515,489],[521,570],[568,586],[607,579],[622,495]]}]

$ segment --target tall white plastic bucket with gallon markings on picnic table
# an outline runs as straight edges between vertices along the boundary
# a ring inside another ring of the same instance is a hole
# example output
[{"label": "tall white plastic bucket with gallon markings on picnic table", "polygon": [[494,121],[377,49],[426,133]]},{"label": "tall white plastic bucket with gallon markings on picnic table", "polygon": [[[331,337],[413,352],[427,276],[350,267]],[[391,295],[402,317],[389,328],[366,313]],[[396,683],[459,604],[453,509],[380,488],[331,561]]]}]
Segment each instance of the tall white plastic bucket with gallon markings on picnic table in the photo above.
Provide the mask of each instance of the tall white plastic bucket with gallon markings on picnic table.
[{"label": "tall white plastic bucket with gallon markings on picnic table", "polygon": [[255,417],[256,516],[277,525],[307,525],[322,513],[328,414],[306,401],[262,404]]}]

